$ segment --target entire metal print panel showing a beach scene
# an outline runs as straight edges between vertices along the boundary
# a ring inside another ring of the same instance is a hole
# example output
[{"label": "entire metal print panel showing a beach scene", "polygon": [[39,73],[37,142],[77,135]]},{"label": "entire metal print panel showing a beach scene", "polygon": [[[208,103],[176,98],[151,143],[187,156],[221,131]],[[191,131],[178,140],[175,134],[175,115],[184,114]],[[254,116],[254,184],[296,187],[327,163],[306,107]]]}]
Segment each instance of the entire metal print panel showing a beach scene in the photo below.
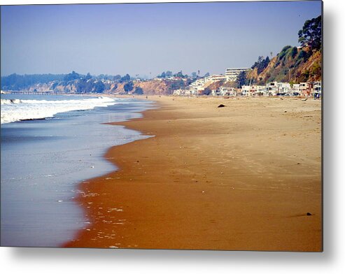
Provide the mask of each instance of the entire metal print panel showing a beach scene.
[{"label": "entire metal print panel showing a beach scene", "polygon": [[322,8],[1,6],[1,246],[321,252]]}]

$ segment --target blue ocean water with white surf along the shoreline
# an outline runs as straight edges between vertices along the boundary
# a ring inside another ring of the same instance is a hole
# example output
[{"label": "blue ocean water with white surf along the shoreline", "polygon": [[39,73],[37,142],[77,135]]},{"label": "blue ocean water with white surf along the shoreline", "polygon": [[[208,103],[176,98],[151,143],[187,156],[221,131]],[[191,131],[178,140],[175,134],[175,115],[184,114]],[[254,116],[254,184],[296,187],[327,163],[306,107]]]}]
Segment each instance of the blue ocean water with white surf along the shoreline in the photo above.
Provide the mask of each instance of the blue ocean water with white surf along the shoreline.
[{"label": "blue ocean water with white surf along the shoreline", "polygon": [[109,147],[150,137],[104,123],[148,108],[136,99],[1,94],[1,245],[57,247],[85,229],[78,183],[115,170],[103,158]]}]

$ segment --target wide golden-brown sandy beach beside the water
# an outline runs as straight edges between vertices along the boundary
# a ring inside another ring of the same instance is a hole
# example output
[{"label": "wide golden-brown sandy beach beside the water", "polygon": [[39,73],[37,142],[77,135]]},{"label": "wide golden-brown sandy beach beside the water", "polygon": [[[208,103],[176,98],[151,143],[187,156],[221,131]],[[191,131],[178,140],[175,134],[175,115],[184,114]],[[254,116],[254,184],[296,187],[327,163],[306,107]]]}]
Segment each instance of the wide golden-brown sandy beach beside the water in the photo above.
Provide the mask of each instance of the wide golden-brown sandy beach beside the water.
[{"label": "wide golden-brown sandy beach beside the water", "polygon": [[155,137],[111,147],[119,170],[80,183],[90,224],[64,247],[322,250],[321,101],[148,99],[117,124]]}]

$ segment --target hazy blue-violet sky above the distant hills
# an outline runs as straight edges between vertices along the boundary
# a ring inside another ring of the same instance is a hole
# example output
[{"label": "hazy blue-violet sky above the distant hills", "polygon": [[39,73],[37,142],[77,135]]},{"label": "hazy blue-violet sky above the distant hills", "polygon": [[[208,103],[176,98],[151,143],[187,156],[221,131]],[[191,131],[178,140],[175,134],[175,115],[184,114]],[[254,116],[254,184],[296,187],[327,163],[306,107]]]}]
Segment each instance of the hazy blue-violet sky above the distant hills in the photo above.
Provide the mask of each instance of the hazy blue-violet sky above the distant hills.
[{"label": "hazy blue-violet sky above the distant hills", "polygon": [[297,45],[321,1],[1,6],[1,75],[224,73]]}]

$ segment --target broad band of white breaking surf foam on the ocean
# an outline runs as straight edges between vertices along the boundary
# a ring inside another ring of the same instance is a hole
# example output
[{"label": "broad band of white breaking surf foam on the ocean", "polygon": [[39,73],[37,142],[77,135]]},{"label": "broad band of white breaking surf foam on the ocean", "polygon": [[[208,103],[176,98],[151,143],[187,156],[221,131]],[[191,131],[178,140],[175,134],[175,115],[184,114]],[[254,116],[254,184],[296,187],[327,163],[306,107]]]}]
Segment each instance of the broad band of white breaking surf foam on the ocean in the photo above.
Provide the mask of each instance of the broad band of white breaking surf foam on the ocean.
[{"label": "broad band of white breaking surf foam on the ocean", "polygon": [[72,110],[90,110],[101,106],[115,105],[117,99],[95,97],[71,100],[20,100],[1,99],[1,124],[53,117],[57,113]]}]

